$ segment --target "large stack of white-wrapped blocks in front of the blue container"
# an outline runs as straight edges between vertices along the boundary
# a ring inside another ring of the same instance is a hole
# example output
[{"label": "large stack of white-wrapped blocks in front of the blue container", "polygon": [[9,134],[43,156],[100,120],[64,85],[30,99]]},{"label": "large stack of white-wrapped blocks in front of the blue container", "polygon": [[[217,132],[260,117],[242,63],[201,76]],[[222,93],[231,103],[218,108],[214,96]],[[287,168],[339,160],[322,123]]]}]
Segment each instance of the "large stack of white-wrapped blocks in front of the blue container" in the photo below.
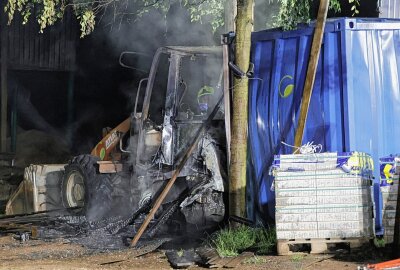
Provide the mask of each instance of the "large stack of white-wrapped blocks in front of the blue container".
[{"label": "large stack of white-wrapped blocks in front of the blue container", "polygon": [[373,236],[369,155],[277,155],[271,173],[278,240]]}]

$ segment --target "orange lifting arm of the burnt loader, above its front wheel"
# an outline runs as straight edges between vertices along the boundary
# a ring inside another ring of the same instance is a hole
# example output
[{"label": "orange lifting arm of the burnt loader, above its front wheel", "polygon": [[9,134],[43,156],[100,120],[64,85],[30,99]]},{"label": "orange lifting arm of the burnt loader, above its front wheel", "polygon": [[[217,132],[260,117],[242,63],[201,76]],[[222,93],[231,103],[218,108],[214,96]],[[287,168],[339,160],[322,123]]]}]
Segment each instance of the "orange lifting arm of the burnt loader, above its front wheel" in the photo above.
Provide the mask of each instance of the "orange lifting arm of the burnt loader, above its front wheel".
[{"label": "orange lifting arm of the burnt loader, above its front wheel", "polygon": [[93,156],[99,157],[101,160],[111,160],[111,152],[118,145],[122,135],[127,133],[131,128],[131,118],[125,119],[121,124],[112,129],[92,150]]}]

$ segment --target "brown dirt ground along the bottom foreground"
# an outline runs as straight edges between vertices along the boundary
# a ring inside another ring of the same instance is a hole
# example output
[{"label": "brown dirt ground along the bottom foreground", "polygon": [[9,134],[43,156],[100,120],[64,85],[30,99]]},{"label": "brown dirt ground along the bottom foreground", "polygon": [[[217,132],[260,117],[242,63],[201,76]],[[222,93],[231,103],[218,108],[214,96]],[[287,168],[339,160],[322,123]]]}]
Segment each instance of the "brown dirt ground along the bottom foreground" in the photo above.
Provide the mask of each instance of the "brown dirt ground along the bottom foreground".
[{"label": "brown dirt ground along the bottom foreground", "polygon": [[[382,261],[384,254],[374,248],[361,253],[248,257],[237,269],[357,269],[359,265]],[[93,251],[64,240],[21,242],[12,236],[0,237],[0,269],[172,269],[159,249],[136,257],[134,249]],[[201,269],[192,266],[190,269]]]}]

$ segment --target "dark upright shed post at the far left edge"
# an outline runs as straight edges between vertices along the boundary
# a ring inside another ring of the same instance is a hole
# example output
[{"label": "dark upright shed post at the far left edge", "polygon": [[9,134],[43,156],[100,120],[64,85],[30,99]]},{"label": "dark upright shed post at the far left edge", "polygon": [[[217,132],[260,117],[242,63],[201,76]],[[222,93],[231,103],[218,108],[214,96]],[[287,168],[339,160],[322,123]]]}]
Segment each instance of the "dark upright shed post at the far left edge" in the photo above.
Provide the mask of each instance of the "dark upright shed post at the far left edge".
[{"label": "dark upright shed post at the far left edge", "polygon": [[[3,6],[3,5],[1,5]],[[7,151],[7,21],[3,8],[0,10],[0,36],[1,36],[1,113],[0,113],[0,151]]]}]

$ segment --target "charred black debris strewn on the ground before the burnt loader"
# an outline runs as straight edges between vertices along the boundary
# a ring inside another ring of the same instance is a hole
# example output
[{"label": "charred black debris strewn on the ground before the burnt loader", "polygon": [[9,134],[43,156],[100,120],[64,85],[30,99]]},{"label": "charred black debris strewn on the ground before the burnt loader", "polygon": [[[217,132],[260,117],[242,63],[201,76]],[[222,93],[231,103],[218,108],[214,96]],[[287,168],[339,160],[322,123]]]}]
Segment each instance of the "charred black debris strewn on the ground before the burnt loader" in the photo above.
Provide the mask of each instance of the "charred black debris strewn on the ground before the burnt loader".
[{"label": "charred black debris strewn on the ground before the burnt loader", "polygon": [[[134,226],[129,225],[125,220],[126,217],[113,217],[88,222],[85,216],[73,216],[65,212],[57,215],[49,211],[3,217],[0,219],[0,232],[14,233],[15,238],[21,241],[27,241],[30,237],[42,240],[62,238],[88,249],[118,250],[129,247],[128,239],[132,239],[134,236],[132,233],[136,231]],[[138,254],[136,256],[149,253],[169,240],[170,238],[143,240],[135,249]]]}]

